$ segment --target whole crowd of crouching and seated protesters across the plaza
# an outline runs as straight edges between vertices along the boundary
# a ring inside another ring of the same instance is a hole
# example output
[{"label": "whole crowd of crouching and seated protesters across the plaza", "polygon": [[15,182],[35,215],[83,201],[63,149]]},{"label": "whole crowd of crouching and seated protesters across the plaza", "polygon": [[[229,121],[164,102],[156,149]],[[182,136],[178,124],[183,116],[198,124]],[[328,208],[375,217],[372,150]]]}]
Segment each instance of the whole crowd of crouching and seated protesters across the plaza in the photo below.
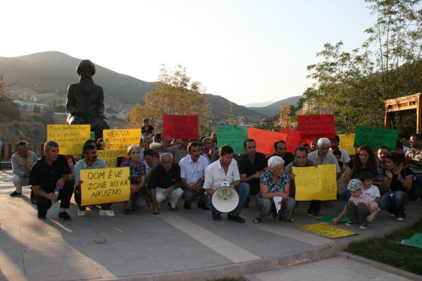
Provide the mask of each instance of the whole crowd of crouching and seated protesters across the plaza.
[{"label": "whole crowd of crouching and seated protesters across the plaza", "polygon": [[[266,157],[256,151],[254,139],[246,139],[244,154],[235,154],[228,145],[218,149],[216,133],[201,139],[162,139],[161,134],[154,134],[154,127],[146,119],[142,142],[130,145],[128,156],[117,162],[118,167],[130,170],[130,198],[123,202],[123,213],[130,215],[147,208],[157,215],[166,200],[170,211],[177,211],[178,206],[190,209],[197,199],[197,208],[211,210],[211,218],[221,220],[221,211],[213,206],[212,196],[221,183],[226,182],[239,195],[239,202],[228,213],[228,220],[244,223],[242,209],[249,208],[255,197],[259,213],[253,223],[265,223],[271,214],[278,220],[292,222],[298,204],[294,200],[292,168],[331,164],[335,165],[337,179],[340,179],[337,199],[347,201],[333,223],[338,223],[347,213],[350,221],[345,225],[366,229],[380,210],[403,221],[407,204],[415,199],[412,198],[414,189],[422,186],[418,184],[422,179],[421,135],[411,135],[407,151],[402,147],[389,151],[385,146],[373,151],[369,146],[360,146],[352,159],[339,142],[338,136],[314,139],[310,146],[298,146],[293,154],[286,151],[286,142],[280,140],[274,144],[275,153]],[[101,149],[106,149],[103,139],[88,140],[81,155],[63,156],[59,154],[58,144],[49,140],[44,144],[44,156],[37,159],[37,155],[29,151],[27,142],[18,142],[11,158],[15,191],[10,195],[20,196],[22,187],[30,185],[31,200],[37,204],[39,219],[46,219],[52,203],[61,201],[58,217],[72,220],[66,209],[70,208],[73,194],[77,216],[87,216],[87,207],[91,211],[98,209],[100,216],[116,216],[111,202],[82,206],[80,171],[111,168],[97,156],[97,150]],[[322,203],[312,200],[308,215],[321,218]]]}]

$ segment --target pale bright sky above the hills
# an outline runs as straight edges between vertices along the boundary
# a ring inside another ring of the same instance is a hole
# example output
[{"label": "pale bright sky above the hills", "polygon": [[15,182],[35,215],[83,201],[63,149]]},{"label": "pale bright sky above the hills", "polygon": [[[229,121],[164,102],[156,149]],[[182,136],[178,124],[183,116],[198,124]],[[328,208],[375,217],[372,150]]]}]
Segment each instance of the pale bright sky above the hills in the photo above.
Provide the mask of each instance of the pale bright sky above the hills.
[{"label": "pale bright sky above the hills", "polygon": [[[302,94],[325,42],[359,47],[374,17],[361,0],[5,1],[0,56],[62,51],[154,81],[187,67],[237,104]],[[1,72],[1,70],[0,70]],[[7,75],[7,74],[6,74]]]}]

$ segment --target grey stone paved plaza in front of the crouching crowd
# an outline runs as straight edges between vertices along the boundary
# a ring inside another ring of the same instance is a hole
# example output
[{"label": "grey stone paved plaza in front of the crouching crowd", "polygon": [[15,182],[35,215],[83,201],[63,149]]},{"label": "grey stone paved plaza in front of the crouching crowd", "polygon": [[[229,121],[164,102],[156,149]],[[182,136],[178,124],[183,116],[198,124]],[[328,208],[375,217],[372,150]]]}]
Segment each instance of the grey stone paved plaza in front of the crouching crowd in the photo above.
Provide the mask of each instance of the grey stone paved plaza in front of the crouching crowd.
[{"label": "grey stone paved plaza in front of the crouching crowd", "polygon": [[[422,218],[418,201],[409,205],[408,218],[399,223],[380,213],[375,224],[353,237],[328,239],[296,225],[315,223],[306,216],[309,202],[301,202],[294,223],[270,219],[254,225],[255,208],[242,212],[247,223],[211,220],[209,211],[192,208],[170,211],[166,204],[154,216],[142,210],[125,216],[122,204],[113,204],[115,218],[98,211],[71,222],[58,219],[58,205],[49,220],[37,219],[28,187],[11,198],[11,171],[0,171],[0,280],[212,280],[275,270],[298,263],[330,258],[349,242],[382,236]],[[74,204],[74,203],[73,203]],[[254,201],[252,201],[254,206]],[[337,214],[342,202],[321,213]],[[99,244],[99,242],[105,242]]]}]

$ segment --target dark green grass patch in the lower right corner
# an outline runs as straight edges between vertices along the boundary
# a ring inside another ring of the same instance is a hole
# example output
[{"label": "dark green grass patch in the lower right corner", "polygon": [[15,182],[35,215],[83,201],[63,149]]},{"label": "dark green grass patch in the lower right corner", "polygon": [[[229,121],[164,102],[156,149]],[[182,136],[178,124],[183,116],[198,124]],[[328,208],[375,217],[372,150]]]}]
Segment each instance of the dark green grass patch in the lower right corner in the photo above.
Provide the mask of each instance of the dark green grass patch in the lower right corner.
[{"label": "dark green grass patch in the lower right corner", "polygon": [[422,275],[422,249],[399,244],[415,233],[422,233],[422,220],[387,237],[351,243],[345,251]]}]

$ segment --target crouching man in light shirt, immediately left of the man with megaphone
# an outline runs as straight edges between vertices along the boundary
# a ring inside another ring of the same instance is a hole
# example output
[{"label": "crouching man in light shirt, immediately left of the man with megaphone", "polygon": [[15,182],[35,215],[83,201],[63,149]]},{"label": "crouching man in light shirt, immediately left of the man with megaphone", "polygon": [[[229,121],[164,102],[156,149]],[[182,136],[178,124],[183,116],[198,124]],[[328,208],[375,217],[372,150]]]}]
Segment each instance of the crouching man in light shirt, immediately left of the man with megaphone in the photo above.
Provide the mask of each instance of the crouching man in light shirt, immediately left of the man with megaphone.
[{"label": "crouching man in light shirt, immediately left of the man with megaphone", "polygon": [[[209,165],[207,156],[201,155],[201,142],[191,142],[187,145],[188,155],[179,162],[180,177],[182,178],[185,209],[190,209],[194,197],[204,195],[205,169]],[[203,197],[203,196],[202,196]],[[199,199],[198,208],[205,206],[204,198]]]}]

